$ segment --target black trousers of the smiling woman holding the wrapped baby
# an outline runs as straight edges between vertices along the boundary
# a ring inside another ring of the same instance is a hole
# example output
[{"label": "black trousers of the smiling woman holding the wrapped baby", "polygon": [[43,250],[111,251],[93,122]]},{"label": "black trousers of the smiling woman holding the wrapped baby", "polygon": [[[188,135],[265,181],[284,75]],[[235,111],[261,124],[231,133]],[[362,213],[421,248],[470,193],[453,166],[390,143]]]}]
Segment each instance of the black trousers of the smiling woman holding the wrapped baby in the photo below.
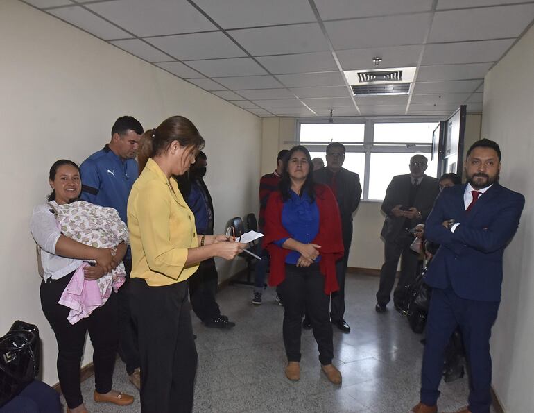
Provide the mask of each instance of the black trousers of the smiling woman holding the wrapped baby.
[{"label": "black trousers of the smiling woman holding the wrapped baby", "polygon": [[58,341],[58,377],[67,406],[74,408],[83,403],[80,391],[80,362],[82,361],[85,333],[93,344],[94,385],[98,393],[107,393],[112,387],[115,355],[119,340],[117,328],[117,294],[91,315],[75,324],[69,323],[69,308],[58,304],[62,292],[73,273],[59,280],[42,281],[40,296],[44,316]]}]

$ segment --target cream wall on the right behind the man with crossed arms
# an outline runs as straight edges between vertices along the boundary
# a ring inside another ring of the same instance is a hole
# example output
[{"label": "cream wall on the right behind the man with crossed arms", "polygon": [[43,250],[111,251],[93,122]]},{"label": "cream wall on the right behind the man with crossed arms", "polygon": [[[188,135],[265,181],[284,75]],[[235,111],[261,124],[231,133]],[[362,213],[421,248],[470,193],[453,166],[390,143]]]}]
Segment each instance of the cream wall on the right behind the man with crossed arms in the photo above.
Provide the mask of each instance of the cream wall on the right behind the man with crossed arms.
[{"label": "cream wall on the right behind the man with crossed arms", "polygon": [[503,297],[493,328],[493,386],[506,412],[534,405],[534,240],[532,173],[534,27],[487,76],[482,136],[503,153],[501,183],[526,198],[519,230],[504,255]]}]

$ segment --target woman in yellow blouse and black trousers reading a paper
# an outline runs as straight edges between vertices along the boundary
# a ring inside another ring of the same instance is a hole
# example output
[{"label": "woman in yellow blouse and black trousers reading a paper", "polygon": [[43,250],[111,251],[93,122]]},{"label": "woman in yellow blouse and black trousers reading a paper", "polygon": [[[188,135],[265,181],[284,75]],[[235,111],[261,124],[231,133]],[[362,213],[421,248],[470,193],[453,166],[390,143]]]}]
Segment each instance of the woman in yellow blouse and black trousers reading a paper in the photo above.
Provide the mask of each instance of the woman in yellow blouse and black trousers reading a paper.
[{"label": "woman in yellow blouse and black trousers reading a paper", "polygon": [[205,142],[181,116],[141,138],[139,178],[128,199],[132,247],[130,306],[141,358],[141,412],[191,412],[197,353],[187,279],[198,263],[227,260],[246,247],[225,235],[201,235],[178,184]]}]

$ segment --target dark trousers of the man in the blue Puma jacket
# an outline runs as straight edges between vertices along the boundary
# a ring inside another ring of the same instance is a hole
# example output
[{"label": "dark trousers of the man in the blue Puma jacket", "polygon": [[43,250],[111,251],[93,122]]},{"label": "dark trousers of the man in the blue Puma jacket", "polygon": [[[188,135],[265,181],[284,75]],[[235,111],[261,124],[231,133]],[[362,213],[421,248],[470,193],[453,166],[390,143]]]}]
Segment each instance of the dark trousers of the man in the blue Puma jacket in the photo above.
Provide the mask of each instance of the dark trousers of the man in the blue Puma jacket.
[{"label": "dark trousers of the man in the blue Puma jacket", "polygon": [[132,374],[139,367],[139,348],[137,348],[137,332],[130,312],[130,273],[132,260],[123,260],[126,269],[126,280],[117,292],[119,306],[119,356],[126,364],[126,373]]}]

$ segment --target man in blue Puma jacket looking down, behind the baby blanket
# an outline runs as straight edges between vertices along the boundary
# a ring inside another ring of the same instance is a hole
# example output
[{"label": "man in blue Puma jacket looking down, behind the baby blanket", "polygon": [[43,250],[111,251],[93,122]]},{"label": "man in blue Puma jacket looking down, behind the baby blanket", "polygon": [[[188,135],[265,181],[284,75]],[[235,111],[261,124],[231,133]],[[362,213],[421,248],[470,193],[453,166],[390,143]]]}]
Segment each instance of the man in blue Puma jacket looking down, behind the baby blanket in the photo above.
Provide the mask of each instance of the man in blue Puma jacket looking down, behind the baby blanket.
[{"label": "man in blue Puma jacket looking down, behind the baby blanket", "polygon": [[[93,153],[80,165],[84,201],[115,208],[126,221],[126,205],[132,185],[139,175],[137,146],[143,134],[143,126],[131,116],[122,116],[111,128],[111,141],[103,149]],[[141,386],[139,376],[139,349],[137,332],[130,313],[129,290],[132,271],[130,247],[123,258],[126,281],[117,292],[119,302],[119,355],[126,364],[126,373],[137,389]]]}]

